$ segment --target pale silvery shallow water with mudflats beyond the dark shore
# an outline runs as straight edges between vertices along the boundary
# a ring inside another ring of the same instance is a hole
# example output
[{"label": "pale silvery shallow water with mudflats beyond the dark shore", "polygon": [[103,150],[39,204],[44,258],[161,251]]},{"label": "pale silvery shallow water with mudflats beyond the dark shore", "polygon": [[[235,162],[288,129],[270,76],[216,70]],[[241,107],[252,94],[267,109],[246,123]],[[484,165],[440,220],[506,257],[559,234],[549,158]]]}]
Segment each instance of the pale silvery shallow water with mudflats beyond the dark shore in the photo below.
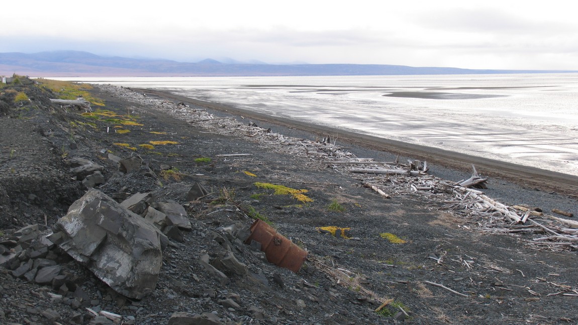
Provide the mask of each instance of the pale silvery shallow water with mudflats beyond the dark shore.
[{"label": "pale silvery shallow water with mudflats beyond the dark shore", "polygon": [[578,175],[578,74],[82,78]]}]

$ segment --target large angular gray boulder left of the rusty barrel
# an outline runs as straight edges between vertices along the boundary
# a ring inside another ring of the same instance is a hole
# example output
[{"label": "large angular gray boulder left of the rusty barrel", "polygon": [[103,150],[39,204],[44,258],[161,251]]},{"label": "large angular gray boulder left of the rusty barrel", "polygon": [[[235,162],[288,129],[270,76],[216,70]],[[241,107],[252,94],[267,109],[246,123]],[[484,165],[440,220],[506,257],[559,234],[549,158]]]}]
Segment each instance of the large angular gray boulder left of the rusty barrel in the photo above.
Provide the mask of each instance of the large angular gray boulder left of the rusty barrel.
[{"label": "large angular gray boulder left of the rusty barrel", "polygon": [[58,245],[116,292],[140,299],[155,289],[162,265],[158,229],[96,189],[54,226]]}]

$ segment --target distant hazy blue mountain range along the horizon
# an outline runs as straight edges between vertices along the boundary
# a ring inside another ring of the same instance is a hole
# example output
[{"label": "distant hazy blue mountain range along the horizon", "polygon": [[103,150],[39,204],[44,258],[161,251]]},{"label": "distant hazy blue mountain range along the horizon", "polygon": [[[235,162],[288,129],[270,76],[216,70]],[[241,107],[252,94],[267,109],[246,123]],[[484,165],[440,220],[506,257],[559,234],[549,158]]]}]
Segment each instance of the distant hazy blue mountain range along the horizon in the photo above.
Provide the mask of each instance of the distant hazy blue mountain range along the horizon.
[{"label": "distant hazy blue mountain range along the horizon", "polygon": [[375,64],[267,64],[234,59],[177,62],[166,59],[102,57],[82,51],[0,53],[0,76],[380,76],[405,74],[559,73],[570,70],[476,70]]}]

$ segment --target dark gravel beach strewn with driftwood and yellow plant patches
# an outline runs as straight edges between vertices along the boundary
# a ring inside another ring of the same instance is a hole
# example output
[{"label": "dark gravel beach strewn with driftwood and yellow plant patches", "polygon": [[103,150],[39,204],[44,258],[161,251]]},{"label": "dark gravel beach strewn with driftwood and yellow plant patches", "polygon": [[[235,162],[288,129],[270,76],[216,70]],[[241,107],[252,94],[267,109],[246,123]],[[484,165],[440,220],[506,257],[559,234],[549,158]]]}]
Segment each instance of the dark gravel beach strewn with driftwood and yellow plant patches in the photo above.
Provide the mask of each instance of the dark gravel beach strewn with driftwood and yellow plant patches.
[{"label": "dark gravel beach strewn with driftwood and yellow plant patches", "polygon": [[[111,85],[95,85],[91,92],[103,102],[94,107],[96,114],[42,104],[43,95],[35,94],[30,105],[42,108],[24,111],[30,118],[19,110],[0,119],[2,239],[27,223],[49,229],[86,191],[66,176],[65,162],[71,158],[103,166],[105,182],[95,188],[106,195],[122,200],[151,193],[155,203],[186,207],[192,224],[182,232],[182,242],[163,252],[157,289],[139,301],[114,293],[73,261],[57,259],[75,275],[95,310],[120,315],[127,324],[164,324],[177,312],[206,322],[210,317],[216,325],[574,321],[574,244],[550,238],[549,231],[560,231],[562,224],[545,216],[552,208],[576,212],[576,197],[568,195],[571,184],[549,183],[549,176],[520,182],[514,171],[532,171],[511,166],[512,174],[504,174],[503,166],[482,165],[467,156],[344,132],[335,136],[332,129],[170,92]],[[142,164],[118,173],[110,155],[139,158]],[[398,155],[400,163],[391,163],[393,168],[407,169],[408,159],[420,160],[427,161],[427,172],[423,166],[415,175],[350,171],[353,166],[383,169],[381,162]],[[375,166],[356,165],[360,160]],[[488,178],[487,189],[454,185],[470,177],[470,163]],[[26,173],[30,170],[36,178]],[[206,197],[189,199],[195,184],[206,189]],[[264,184],[292,192],[277,193]],[[65,186],[66,194],[60,192]],[[521,223],[498,210],[482,211],[476,203],[488,199],[472,200],[481,193],[518,216],[524,212],[515,205],[539,207],[544,215],[528,212]],[[257,216],[307,252],[298,272],[269,263],[259,249],[227,231],[232,225],[249,226]],[[321,229],[340,229],[343,236]],[[240,274],[218,262],[231,255],[244,266],[236,269]],[[202,258],[222,270],[227,282],[209,272]],[[73,292],[2,270],[7,322],[43,320],[21,307],[31,302],[40,311],[57,311],[62,322],[77,314],[82,324],[95,319],[86,309],[73,308],[79,299]],[[50,300],[40,290],[62,297]]]}]

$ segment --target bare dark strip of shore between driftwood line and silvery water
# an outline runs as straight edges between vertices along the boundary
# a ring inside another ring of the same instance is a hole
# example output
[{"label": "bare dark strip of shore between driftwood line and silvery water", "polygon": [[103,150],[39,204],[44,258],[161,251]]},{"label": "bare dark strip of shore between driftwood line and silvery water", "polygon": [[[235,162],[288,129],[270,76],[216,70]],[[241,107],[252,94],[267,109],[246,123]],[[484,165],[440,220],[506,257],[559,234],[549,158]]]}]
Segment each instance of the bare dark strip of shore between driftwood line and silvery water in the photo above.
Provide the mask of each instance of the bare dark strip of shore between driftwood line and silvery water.
[{"label": "bare dark strip of shore between driftwood line and silvery water", "polygon": [[389,152],[393,155],[409,156],[412,159],[427,161],[450,169],[471,172],[471,165],[475,165],[478,171],[484,175],[503,178],[514,184],[535,188],[544,191],[554,191],[560,194],[576,198],[578,193],[578,176],[558,173],[556,171],[539,169],[536,167],[517,165],[500,160],[488,159],[478,156],[461,154],[459,152],[427,147],[425,145],[410,144],[398,140],[384,139],[380,137],[362,135],[360,133],[332,128],[330,126],[316,125],[307,122],[295,121],[287,118],[272,117],[266,114],[238,109],[225,104],[206,102],[203,100],[176,95],[170,91],[151,88],[132,88],[147,95],[188,102],[195,106],[204,107],[223,113],[241,115],[244,118],[255,119],[260,122],[278,125],[283,128],[297,129],[309,134],[332,135],[338,134],[339,141],[350,145],[358,145],[369,150]]}]

